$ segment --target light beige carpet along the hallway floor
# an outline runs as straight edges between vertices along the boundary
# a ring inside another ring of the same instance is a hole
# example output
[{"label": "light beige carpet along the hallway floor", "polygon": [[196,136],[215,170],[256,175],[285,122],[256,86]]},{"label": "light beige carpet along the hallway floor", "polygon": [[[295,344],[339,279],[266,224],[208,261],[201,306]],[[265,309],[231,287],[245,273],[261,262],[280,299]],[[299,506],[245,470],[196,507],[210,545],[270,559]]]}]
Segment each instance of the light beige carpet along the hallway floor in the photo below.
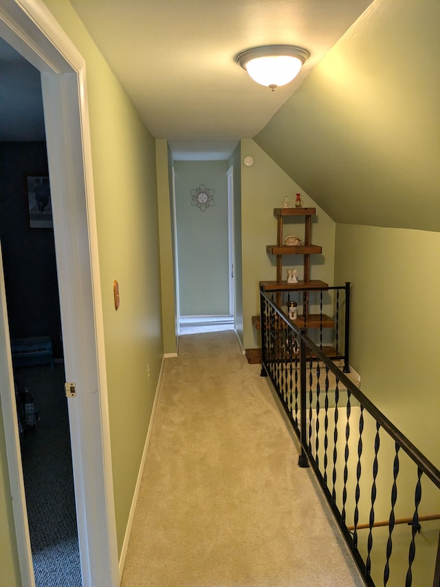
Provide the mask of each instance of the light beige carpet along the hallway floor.
[{"label": "light beige carpet along the hallway floor", "polygon": [[122,587],[362,586],[260,365],[234,332],[166,359]]}]

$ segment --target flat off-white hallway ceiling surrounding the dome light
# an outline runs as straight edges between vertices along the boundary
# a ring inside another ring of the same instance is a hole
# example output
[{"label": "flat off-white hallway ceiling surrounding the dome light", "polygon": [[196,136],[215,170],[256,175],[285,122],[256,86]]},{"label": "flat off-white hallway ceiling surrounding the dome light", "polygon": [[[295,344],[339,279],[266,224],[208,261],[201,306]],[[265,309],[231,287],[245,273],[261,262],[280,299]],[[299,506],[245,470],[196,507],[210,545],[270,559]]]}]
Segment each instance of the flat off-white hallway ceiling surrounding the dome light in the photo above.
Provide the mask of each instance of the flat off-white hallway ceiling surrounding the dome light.
[{"label": "flat off-white hallway ceiling surrounding the dome light", "polygon": [[[173,151],[180,153],[206,150],[205,141],[212,149],[213,142],[220,141],[220,151],[228,151],[240,138],[252,138],[371,4],[371,0],[70,1],[153,136],[171,140]],[[270,44],[299,45],[310,52],[298,77],[275,92],[256,84],[234,62],[238,52]],[[17,66],[20,76],[23,67],[23,63]],[[12,82],[16,91],[19,86],[21,100],[22,85]],[[28,100],[36,98],[41,107],[41,92],[32,92]],[[14,118],[15,101],[9,114],[0,111],[1,140],[13,140],[4,138],[3,120]]]}]

